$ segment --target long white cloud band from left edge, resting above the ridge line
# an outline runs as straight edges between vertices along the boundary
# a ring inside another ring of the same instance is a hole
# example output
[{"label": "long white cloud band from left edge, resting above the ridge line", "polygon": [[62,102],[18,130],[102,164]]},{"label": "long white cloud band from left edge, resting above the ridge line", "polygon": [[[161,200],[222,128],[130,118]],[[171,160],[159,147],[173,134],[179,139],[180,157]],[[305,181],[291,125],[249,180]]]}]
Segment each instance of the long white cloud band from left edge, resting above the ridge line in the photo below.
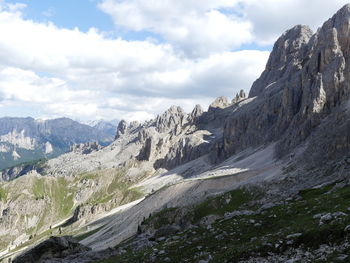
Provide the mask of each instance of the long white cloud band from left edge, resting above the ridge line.
[{"label": "long white cloud band from left edge, resting above the ridge line", "polygon": [[84,33],[0,12],[0,98],[13,109],[25,105],[28,115],[33,107],[39,116],[83,119],[141,120],[173,104],[190,111],[248,89],[267,55],[226,51],[194,60],[167,43],[111,39],[96,29]]}]

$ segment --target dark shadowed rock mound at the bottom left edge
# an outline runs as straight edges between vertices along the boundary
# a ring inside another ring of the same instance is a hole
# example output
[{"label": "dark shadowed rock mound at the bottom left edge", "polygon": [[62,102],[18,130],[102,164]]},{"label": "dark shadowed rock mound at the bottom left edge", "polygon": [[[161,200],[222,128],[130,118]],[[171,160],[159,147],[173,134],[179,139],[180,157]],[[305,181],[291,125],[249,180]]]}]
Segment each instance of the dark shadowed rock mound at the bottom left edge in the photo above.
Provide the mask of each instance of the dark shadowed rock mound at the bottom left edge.
[{"label": "dark shadowed rock mound at the bottom left edge", "polygon": [[87,252],[90,248],[69,236],[51,237],[13,260],[13,263],[41,263],[53,258]]}]

